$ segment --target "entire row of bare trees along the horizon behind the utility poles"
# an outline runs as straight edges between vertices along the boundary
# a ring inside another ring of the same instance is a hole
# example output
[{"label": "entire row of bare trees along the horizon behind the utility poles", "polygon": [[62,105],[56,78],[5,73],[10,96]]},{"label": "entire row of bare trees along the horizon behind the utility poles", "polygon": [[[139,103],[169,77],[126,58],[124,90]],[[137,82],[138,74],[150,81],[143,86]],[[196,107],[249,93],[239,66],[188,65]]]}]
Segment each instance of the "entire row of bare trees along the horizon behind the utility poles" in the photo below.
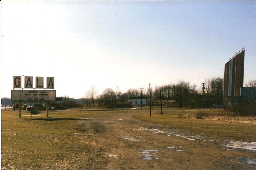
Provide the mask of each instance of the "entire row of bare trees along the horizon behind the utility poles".
[{"label": "entire row of bare trees along the horizon behind the utility poles", "polygon": [[[256,81],[250,81],[248,84],[253,84]],[[202,87],[190,85],[187,81],[179,81],[173,84],[167,84],[160,87],[151,89],[152,103],[160,100],[160,90],[162,92],[162,100],[176,103],[176,106],[182,107],[208,107],[213,105],[222,105],[223,98],[223,78],[215,77],[209,78],[204,81],[205,93]],[[249,86],[249,85],[248,85]],[[117,108],[117,107],[130,107],[127,103],[128,99],[132,98],[149,98],[148,89],[128,89],[122,93],[117,93],[113,89],[104,89],[102,94],[98,95],[94,85],[85,94],[85,103],[87,106],[93,106],[98,103],[103,108]]]}]

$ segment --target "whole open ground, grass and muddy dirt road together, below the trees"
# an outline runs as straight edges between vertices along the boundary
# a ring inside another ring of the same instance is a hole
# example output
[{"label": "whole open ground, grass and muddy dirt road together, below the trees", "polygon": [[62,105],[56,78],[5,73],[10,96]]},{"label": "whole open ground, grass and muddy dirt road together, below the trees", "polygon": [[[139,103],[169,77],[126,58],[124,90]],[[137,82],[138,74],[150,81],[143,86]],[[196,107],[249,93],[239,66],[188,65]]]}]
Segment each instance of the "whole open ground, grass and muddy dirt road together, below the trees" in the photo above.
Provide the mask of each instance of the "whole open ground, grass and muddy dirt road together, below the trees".
[{"label": "whole open ground, grass and muddy dirt road together, below the trees", "polygon": [[[2,169],[255,169],[255,117],[223,110],[1,111]],[[195,117],[200,115],[201,119]]]}]

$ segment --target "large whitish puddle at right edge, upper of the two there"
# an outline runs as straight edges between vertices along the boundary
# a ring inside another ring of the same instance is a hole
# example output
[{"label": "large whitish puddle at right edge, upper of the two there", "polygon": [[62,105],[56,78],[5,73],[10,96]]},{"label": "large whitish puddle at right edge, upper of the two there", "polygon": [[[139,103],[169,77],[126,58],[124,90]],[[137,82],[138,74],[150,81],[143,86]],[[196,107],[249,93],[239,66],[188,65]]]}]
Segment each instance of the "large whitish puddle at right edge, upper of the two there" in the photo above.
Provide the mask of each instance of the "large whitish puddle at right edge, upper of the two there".
[{"label": "large whitish puddle at right edge, upper of the two there", "polygon": [[229,147],[232,149],[245,149],[256,152],[256,142],[229,141],[226,142],[226,144],[222,144],[222,146]]}]

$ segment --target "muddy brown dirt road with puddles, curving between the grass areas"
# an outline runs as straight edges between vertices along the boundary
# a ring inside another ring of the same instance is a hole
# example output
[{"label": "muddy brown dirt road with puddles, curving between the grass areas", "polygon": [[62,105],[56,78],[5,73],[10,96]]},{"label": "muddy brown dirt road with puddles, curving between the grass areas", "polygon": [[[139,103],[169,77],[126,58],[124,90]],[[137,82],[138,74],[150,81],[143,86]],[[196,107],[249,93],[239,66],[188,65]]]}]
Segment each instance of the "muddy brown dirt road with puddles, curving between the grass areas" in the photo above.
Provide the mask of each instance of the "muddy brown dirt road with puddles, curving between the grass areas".
[{"label": "muddy brown dirt road with puddles, curving between the grass areas", "polygon": [[[254,169],[255,150],[231,150],[222,139],[175,132],[136,120],[140,110],[95,114],[77,124],[78,140],[92,144],[84,169]],[[83,159],[84,156],[81,156]],[[248,161],[252,164],[248,164]]]}]

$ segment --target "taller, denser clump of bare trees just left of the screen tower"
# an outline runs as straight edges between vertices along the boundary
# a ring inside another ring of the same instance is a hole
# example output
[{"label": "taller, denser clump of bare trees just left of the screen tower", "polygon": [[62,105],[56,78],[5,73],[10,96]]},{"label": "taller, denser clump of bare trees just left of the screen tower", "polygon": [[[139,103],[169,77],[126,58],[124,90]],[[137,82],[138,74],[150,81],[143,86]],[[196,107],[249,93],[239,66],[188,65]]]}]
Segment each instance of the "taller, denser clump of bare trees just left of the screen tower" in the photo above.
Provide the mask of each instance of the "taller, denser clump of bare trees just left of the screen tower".
[{"label": "taller, denser clump of bare trees just left of the screen tower", "polygon": [[223,97],[223,79],[220,77],[205,80],[205,95],[203,89],[196,89],[196,85],[189,82],[179,81],[176,84],[168,84],[157,87],[153,93],[155,100],[174,100],[182,107],[212,107],[213,104],[221,105]]}]

